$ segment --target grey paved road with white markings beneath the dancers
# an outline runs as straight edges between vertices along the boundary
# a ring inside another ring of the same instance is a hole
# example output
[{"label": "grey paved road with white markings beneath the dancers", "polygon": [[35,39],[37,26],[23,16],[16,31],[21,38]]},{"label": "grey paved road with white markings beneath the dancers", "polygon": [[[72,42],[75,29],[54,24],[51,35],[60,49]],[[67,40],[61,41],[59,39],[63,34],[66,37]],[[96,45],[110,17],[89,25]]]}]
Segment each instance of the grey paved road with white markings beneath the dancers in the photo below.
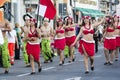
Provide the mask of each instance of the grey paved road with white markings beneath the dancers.
[{"label": "grey paved road with white markings beneath the dancers", "polygon": [[42,72],[29,75],[31,68],[25,67],[23,60],[16,60],[15,65],[10,68],[9,74],[3,74],[4,70],[0,68],[0,80],[120,80],[120,60],[114,62],[114,65],[103,65],[105,62],[103,48],[99,47],[99,52],[95,55],[95,70],[89,74],[84,74],[83,57],[75,52],[76,60],[59,66],[59,57],[55,57],[52,63],[43,63],[41,57]]}]

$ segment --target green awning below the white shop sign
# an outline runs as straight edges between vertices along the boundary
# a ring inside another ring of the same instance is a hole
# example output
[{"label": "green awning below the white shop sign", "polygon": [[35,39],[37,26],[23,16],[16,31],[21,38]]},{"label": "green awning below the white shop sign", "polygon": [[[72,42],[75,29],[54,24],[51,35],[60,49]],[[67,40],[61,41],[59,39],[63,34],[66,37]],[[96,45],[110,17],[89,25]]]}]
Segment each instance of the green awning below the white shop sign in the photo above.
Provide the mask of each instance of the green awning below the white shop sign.
[{"label": "green awning below the white shop sign", "polygon": [[81,11],[84,16],[90,15],[92,17],[101,17],[101,16],[105,15],[100,10],[86,9],[86,8],[79,8],[79,7],[75,8],[75,9]]}]

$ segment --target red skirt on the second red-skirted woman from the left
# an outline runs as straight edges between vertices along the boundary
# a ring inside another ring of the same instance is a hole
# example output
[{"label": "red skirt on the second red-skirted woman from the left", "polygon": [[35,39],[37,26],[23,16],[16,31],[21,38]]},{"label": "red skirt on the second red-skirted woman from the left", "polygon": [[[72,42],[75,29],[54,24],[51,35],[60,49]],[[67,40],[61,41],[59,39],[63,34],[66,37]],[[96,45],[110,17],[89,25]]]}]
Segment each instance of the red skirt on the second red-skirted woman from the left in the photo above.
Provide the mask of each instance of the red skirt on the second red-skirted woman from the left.
[{"label": "red skirt on the second red-skirted woman from the left", "polygon": [[54,47],[56,49],[64,50],[65,45],[66,45],[65,38],[63,38],[63,39],[56,39],[55,40]]}]

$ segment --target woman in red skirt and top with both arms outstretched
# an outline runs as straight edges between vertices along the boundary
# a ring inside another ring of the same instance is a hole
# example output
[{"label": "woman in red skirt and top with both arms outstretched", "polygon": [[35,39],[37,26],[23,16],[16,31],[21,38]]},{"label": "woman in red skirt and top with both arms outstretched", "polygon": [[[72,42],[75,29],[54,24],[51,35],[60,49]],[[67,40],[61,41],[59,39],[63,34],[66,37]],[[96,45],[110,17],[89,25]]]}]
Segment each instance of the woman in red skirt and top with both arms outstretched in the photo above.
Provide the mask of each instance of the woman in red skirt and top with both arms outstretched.
[{"label": "woman in red skirt and top with both arms outstretched", "polygon": [[84,16],[83,17],[83,24],[80,29],[80,32],[78,36],[76,37],[74,43],[71,46],[74,46],[77,40],[82,36],[80,40],[80,46],[79,46],[79,52],[83,54],[84,56],[84,65],[85,65],[85,74],[89,73],[89,68],[88,68],[88,59],[90,58],[90,66],[91,70],[94,70],[94,39],[93,39],[93,33],[94,33],[94,27],[97,27],[100,25],[104,19],[102,19],[99,22],[95,22],[94,24],[91,24],[91,18],[90,16]]}]

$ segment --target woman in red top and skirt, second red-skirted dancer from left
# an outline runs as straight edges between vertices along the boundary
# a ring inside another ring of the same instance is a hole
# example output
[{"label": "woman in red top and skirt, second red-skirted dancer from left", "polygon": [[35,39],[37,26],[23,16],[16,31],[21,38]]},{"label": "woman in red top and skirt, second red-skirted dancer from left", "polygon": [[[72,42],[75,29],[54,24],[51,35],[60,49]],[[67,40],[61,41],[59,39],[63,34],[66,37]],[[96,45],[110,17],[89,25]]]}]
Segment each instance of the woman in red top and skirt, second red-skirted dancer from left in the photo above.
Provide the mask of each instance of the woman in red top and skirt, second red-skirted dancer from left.
[{"label": "woman in red top and skirt, second red-skirted dancer from left", "polygon": [[63,29],[63,21],[62,19],[58,19],[54,46],[57,49],[58,55],[60,56],[59,65],[64,64],[63,50],[65,48],[65,45],[66,45],[66,42],[65,42],[65,31]]}]

